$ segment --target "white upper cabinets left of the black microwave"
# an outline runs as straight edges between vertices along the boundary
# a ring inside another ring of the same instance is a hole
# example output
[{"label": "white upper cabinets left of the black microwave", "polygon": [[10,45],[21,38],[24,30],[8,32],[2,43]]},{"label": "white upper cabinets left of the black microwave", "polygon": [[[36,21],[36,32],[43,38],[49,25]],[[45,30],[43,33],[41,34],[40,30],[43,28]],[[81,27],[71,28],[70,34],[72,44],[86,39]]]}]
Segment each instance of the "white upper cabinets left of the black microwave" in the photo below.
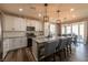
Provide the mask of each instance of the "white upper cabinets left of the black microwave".
[{"label": "white upper cabinets left of the black microwave", "polygon": [[12,15],[4,15],[3,30],[4,31],[26,31],[26,19],[12,17]]}]

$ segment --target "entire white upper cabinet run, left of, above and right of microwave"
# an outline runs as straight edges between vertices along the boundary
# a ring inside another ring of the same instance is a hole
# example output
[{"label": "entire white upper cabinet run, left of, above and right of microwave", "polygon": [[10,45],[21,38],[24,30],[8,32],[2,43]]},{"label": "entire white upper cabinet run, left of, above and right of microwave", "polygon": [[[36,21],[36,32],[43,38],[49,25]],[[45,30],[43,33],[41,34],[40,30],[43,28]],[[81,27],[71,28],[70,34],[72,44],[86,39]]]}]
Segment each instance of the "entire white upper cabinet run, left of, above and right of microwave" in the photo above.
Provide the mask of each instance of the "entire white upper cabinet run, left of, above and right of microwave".
[{"label": "entire white upper cabinet run, left of, above and right of microwave", "polygon": [[35,26],[42,31],[42,22],[4,14],[3,31],[26,31],[27,26]]}]

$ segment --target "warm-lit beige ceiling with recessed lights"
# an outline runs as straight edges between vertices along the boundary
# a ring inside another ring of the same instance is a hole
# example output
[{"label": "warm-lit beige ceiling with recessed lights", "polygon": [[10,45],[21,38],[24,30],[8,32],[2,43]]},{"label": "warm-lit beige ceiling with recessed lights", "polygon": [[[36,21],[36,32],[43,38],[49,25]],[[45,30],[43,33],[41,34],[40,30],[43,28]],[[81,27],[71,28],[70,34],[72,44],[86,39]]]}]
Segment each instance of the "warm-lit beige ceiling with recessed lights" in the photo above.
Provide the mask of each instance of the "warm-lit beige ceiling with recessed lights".
[{"label": "warm-lit beige ceiling with recessed lights", "polygon": [[[43,20],[45,4],[43,3],[1,3],[0,9],[14,14],[32,17]],[[19,11],[23,9],[23,11]],[[70,9],[75,9],[70,11]],[[57,10],[60,10],[59,17]],[[50,21],[61,20],[70,21],[88,17],[87,3],[49,3],[47,7]],[[41,17],[39,17],[41,14]]]}]

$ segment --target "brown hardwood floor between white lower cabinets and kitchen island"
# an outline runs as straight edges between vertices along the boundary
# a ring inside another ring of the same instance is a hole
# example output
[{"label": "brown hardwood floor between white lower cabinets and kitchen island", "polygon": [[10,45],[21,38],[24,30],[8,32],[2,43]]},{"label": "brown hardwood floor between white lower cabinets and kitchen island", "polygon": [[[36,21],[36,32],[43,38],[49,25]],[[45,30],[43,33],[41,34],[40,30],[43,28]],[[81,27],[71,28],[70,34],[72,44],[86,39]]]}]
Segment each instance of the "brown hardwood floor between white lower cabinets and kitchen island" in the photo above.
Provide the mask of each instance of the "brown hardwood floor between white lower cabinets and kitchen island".
[{"label": "brown hardwood floor between white lower cabinets and kitchen island", "polygon": [[19,48],[10,51],[4,58],[4,62],[35,62],[30,48]]}]

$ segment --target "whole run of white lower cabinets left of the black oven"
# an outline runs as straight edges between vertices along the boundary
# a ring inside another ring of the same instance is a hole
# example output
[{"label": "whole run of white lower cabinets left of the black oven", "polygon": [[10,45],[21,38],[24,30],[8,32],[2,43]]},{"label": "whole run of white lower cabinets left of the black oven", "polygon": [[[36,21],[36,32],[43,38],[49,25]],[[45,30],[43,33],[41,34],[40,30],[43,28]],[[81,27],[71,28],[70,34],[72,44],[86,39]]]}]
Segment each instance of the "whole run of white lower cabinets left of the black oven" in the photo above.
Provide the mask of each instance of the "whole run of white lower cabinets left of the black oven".
[{"label": "whole run of white lower cabinets left of the black oven", "polygon": [[9,51],[27,46],[27,37],[12,37],[3,40],[3,57]]}]

